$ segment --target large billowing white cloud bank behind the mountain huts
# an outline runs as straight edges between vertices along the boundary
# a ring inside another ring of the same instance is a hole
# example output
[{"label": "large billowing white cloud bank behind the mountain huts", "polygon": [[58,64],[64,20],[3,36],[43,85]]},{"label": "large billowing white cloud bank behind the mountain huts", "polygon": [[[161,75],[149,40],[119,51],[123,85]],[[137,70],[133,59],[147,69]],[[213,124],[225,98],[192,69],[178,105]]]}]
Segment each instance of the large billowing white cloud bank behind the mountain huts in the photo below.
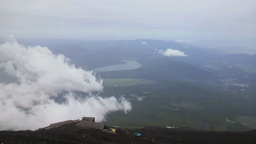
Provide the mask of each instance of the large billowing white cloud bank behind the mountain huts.
[{"label": "large billowing white cloud bank behind the mountain huts", "polygon": [[[18,79],[0,83],[0,130],[35,130],[82,116],[102,121],[109,112],[132,109],[125,98],[92,95],[103,90],[103,80],[92,71],[76,68],[46,47],[24,47],[12,36],[0,45],[0,69]],[[55,102],[56,96],[65,102]]]}]

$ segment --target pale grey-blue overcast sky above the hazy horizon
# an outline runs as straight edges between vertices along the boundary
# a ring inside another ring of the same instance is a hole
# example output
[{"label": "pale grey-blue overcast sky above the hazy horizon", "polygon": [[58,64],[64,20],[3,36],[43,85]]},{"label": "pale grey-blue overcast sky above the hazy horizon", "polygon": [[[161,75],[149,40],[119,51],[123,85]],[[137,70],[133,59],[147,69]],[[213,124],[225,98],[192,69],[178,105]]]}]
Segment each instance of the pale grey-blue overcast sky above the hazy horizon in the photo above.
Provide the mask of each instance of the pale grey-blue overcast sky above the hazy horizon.
[{"label": "pale grey-blue overcast sky above the hazy horizon", "polygon": [[256,0],[0,0],[0,37],[256,46]]}]

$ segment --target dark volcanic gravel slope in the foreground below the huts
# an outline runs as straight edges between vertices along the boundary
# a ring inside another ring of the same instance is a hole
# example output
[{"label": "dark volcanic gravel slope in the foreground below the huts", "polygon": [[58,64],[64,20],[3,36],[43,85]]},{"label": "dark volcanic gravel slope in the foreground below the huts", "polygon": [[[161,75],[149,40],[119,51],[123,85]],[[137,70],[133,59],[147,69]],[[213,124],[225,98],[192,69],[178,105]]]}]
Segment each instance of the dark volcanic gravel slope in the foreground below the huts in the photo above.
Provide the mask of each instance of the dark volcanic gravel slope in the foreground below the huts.
[{"label": "dark volcanic gravel slope in the foreground below the huts", "polygon": [[[134,133],[140,133],[137,137]],[[85,138],[82,136],[85,134]],[[155,139],[152,142],[152,139]],[[0,144],[256,144],[256,130],[205,132],[194,129],[117,128],[116,134],[74,125],[51,130],[0,131]]]}]

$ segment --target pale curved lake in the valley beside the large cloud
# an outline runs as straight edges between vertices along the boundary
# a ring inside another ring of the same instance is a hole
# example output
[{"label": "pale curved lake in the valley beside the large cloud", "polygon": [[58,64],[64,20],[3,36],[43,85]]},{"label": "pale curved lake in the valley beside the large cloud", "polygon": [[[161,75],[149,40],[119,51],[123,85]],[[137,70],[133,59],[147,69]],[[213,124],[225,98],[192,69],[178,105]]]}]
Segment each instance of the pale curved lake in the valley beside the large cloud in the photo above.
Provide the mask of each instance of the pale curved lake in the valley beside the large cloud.
[{"label": "pale curved lake in the valley beside the large cloud", "polygon": [[141,65],[138,62],[134,62],[134,61],[130,61],[130,60],[121,60],[121,61],[126,62],[126,63],[104,66],[102,68],[95,68],[95,69],[93,69],[93,71],[104,72],[104,71],[113,71],[113,70],[134,70],[136,68],[141,67]]}]

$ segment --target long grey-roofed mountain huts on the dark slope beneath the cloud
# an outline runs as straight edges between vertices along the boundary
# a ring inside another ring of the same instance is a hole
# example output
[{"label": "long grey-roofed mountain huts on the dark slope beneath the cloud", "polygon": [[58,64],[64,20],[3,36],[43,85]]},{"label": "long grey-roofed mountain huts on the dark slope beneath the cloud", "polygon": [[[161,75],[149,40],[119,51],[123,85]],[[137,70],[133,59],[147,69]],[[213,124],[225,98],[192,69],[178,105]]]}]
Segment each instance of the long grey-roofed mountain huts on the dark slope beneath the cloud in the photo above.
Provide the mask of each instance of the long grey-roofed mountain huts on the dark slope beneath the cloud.
[{"label": "long grey-roofed mountain huts on the dark slope beneath the cloud", "polygon": [[50,126],[46,126],[44,128],[39,128],[38,130],[49,130],[50,128],[58,128],[60,126],[63,126],[65,124],[72,124],[86,127],[86,128],[96,128],[100,130],[106,129],[106,124],[102,124],[100,122],[95,122],[94,117],[83,117],[82,120],[66,120],[63,122],[57,122],[54,124],[50,124]]}]

